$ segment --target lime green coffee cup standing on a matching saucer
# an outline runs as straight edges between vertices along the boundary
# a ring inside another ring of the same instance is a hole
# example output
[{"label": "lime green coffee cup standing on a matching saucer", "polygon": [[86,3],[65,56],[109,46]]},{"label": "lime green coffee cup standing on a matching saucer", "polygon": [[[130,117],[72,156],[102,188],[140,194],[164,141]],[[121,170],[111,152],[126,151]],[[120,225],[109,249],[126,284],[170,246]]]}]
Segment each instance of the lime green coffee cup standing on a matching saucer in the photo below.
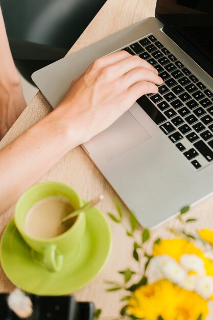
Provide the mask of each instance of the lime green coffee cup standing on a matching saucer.
[{"label": "lime green coffee cup standing on a matching saucer", "polygon": [[14,213],[16,227],[23,240],[35,252],[41,255],[43,265],[51,272],[60,271],[63,266],[63,256],[67,252],[75,257],[78,245],[84,234],[86,219],[82,212],[78,215],[75,223],[63,234],[48,239],[34,238],[25,231],[25,220],[32,206],[47,197],[63,196],[72,204],[74,210],[82,207],[83,201],[77,192],[61,182],[43,182],[27,190],[19,198]]}]

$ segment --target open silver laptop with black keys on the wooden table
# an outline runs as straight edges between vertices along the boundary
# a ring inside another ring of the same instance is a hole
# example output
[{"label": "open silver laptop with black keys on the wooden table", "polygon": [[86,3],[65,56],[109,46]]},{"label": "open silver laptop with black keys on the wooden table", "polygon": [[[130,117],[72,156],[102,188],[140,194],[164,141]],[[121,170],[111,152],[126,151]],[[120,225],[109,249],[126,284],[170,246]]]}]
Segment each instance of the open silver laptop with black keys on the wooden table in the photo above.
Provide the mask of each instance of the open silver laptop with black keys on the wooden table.
[{"label": "open silver laptop with black keys on the wooden table", "polygon": [[164,80],[82,145],[143,226],[153,227],[213,191],[213,3],[158,0],[139,21],[32,75],[56,108],[95,59],[126,50]]}]

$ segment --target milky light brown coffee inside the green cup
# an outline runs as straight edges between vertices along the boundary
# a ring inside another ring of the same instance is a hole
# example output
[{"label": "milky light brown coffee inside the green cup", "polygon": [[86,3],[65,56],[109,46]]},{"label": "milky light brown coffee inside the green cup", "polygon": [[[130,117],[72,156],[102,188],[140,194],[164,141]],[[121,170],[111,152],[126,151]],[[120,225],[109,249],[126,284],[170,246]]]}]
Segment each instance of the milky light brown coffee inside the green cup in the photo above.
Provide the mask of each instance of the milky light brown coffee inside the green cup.
[{"label": "milky light brown coffee inside the green cup", "polygon": [[27,214],[25,231],[34,238],[48,239],[66,232],[76,221],[76,217],[61,224],[70,212],[72,204],[65,197],[54,196],[36,202]]}]

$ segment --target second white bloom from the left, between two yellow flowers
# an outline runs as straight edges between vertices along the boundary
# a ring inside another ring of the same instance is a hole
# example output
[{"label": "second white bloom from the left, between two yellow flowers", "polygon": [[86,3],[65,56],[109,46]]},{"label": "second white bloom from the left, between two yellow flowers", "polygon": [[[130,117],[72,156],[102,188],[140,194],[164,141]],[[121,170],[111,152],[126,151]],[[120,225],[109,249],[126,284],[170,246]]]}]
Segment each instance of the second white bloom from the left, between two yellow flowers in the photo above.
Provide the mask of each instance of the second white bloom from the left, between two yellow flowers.
[{"label": "second white bloom from the left, between two yellow flowers", "polygon": [[162,267],[162,272],[166,279],[176,284],[183,282],[187,275],[183,267],[173,258]]}]

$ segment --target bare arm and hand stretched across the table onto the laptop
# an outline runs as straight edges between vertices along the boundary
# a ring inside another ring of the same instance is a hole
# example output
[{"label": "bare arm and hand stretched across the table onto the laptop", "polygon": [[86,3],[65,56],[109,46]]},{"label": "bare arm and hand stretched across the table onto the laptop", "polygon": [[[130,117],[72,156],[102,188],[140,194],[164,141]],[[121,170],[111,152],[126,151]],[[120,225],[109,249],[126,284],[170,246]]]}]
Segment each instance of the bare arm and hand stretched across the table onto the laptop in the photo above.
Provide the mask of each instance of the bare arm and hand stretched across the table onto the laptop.
[{"label": "bare arm and hand stretched across the table onto the laptop", "polygon": [[146,61],[125,51],[96,60],[73,81],[56,110],[0,151],[0,212],[70,149],[110,126],[162,84]]}]

